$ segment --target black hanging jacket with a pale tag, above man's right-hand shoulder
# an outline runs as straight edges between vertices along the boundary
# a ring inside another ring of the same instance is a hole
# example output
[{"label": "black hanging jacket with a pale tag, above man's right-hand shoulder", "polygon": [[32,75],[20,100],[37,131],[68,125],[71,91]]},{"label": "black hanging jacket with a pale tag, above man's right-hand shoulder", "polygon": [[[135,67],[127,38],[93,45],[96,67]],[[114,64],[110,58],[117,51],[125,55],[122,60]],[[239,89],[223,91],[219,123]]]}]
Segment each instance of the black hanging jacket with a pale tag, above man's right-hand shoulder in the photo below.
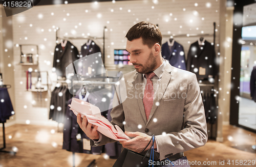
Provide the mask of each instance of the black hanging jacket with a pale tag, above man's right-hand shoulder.
[{"label": "black hanging jacket with a pale tag, above man's right-hand shoulder", "polygon": [[214,45],[208,41],[205,40],[204,45],[199,45],[198,41],[190,45],[187,54],[187,70],[195,73],[198,79],[208,79],[218,73],[215,61]]}]

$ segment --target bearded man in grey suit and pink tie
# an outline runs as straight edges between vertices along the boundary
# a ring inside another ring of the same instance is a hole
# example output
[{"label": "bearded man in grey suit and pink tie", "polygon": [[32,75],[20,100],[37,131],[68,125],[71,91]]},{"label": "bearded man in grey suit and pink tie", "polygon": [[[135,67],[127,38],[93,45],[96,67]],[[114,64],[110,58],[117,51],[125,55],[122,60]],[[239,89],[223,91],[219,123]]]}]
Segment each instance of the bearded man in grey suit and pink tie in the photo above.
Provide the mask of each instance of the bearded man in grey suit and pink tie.
[{"label": "bearded man in grey suit and pink tie", "polygon": [[[123,75],[111,111],[112,124],[132,138],[121,142],[122,146],[140,153],[155,134],[155,153],[160,160],[171,161],[184,151],[204,146],[207,127],[196,75],[162,58],[162,34],[156,25],[139,22],[126,38],[126,50],[136,70]],[[91,145],[115,142],[98,133],[86,117],[81,120],[77,115],[77,122],[92,139]]]}]

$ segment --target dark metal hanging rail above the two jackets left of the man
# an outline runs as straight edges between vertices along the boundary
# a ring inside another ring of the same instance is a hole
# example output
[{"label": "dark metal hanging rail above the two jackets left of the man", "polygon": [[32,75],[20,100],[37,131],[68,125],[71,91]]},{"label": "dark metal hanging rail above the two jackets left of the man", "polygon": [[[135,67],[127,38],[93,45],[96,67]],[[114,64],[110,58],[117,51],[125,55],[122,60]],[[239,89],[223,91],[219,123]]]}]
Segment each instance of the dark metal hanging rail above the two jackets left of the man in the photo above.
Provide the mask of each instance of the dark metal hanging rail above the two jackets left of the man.
[{"label": "dark metal hanging rail above the two jackets left of the man", "polygon": [[86,37],[58,37],[58,31],[59,27],[56,29],[56,42],[58,39],[62,40],[84,40],[84,39],[103,39],[103,57],[102,57],[102,62],[105,64],[105,29],[106,26],[103,27],[103,37],[93,37],[93,36],[86,36]]}]

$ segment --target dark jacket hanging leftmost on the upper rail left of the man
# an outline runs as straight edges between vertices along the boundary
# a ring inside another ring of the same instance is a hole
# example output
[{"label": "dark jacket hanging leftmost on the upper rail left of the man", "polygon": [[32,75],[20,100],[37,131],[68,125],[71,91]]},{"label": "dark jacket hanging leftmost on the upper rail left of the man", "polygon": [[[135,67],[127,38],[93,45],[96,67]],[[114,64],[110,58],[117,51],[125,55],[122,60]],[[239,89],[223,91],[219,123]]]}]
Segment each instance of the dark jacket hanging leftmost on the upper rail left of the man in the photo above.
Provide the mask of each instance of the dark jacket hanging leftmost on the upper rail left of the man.
[{"label": "dark jacket hanging leftmost on the upper rail left of the man", "polygon": [[57,44],[54,50],[53,67],[56,69],[58,76],[66,76],[66,67],[79,59],[77,48],[69,41],[62,49],[61,43]]}]

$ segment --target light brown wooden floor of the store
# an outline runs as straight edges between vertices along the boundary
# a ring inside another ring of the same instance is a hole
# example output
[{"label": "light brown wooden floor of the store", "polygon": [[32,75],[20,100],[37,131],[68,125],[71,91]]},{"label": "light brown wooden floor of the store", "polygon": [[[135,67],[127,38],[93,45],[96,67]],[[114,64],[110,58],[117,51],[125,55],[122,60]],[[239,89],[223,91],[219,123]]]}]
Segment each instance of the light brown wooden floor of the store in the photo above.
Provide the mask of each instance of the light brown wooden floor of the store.
[{"label": "light brown wooden floor of the store", "polygon": [[[61,149],[63,133],[51,133],[52,129],[57,131],[55,127],[36,125],[13,125],[6,128],[6,150],[15,147],[17,153],[15,156],[0,153],[0,167],[72,166],[72,153]],[[208,140],[205,146],[184,152],[191,162],[190,166],[256,166],[252,163],[248,165],[248,160],[256,160],[256,151],[251,149],[251,145],[255,145],[255,133],[228,125],[223,127],[223,134],[223,143]],[[2,138],[2,130],[0,137]],[[115,159],[105,158],[104,154],[75,154],[76,166],[86,167],[96,159],[95,167],[111,167]],[[227,164],[228,160],[230,165]],[[236,165],[236,160],[240,164]],[[220,161],[224,161],[224,165],[220,165]]]}]

